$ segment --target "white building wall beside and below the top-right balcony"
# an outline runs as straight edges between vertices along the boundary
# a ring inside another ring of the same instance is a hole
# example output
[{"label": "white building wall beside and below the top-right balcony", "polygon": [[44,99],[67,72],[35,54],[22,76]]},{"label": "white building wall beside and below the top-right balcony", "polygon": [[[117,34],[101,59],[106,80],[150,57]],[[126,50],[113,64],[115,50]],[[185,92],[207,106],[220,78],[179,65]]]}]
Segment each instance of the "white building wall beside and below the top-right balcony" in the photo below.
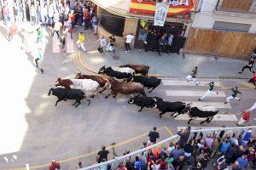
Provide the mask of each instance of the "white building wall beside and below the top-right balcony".
[{"label": "white building wall beside and below the top-right balcony", "polygon": [[[201,5],[201,12],[195,14],[192,27],[201,29],[212,29],[214,22],[224,21],[224,22],[235,22],[241,24],[252,25],[249,33],[256,33],[256,17],[255,18],[241,18],[241,17],[231,17],[227,14],[214,14],[214,9],[218,0],[203,0]],[[256,15],[256,14],[255,14]]]}]

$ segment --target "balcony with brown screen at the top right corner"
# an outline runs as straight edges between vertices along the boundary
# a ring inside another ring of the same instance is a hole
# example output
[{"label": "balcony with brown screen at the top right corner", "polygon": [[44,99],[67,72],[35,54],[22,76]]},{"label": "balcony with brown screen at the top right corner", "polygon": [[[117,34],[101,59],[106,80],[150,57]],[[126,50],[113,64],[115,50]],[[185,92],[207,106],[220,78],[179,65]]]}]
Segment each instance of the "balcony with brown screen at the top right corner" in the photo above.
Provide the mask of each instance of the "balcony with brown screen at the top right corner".
[{"label": "balcony with brown screen at the top right corner", "polygon": [[256,0],[218,0],[214,14],[256,18]]}]

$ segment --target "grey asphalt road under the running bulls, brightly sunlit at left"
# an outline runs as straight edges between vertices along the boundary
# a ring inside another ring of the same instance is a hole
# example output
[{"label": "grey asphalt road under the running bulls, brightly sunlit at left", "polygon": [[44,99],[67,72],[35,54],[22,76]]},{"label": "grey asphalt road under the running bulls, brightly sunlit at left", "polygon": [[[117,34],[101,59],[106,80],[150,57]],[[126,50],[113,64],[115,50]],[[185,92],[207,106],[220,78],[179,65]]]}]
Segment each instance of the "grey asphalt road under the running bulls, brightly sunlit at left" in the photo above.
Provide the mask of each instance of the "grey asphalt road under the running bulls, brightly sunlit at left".
[{"label": "grey asphalt road under the running bulls, brightly sunlit at left", "polygon": [[[73,101],[61,101],[55,107],[55,96],[47,96],[49,85],[55,82],[57,74],[61,77],[74,77],[79,69],[73,63],[72,54],[54,54],[50,41],[46,45],[44,70],[40,74],[32,62],[32,56],[20,49],[20,40],[6,42],[0,35],[0,45],[5,57],[0,64],[2,104],[0,115],[0,169],[43,165],[45,169],[51,159],[65,160],[62,169],[74,169],[79,161],[85,165],[94,162],[96,150],[101,146],[118,143],[118,155],[125,149],[137,150],[147,141],[147,133],[152,127],[159,127],[160,139],[166,139],[176,133],[179,127],[187,126],[187,119],[178,116],[174,119],[166,113],[162,119],[156,109],[145,108],[137,112],[136,105],[128,105],[130,96],[118,94],[116,99],[104,99],[108,92],[92,99],[91,105],[84,100],[74,108]],[[206,86],[195,87],[183,79],[162,78],[160,87],[148,96],[160,96],[169,101],[198,102],[199,94],[207,91]],[[212,82],[212,79],[200,79]],[[220,80],[213,80],[219,83]],[[241,84],[239,80],[222,80],[216,90],[219,96],[208,97],[203,102],[212,102],[220,111],[229,111],[226,116],[218,116],[216,121],[205,123],[201,127],[236,126],[236,113],[249,108],[255,102],[256,91]],[[175,84],[175,83],[176,84]],[[8,83],[8,86],[6,86]],[[173,84],[174,83],[174,84]],[[238,86],[243,97],[241,102],[231,101],[224,105],[229,90]],[[8,88],[7,88],[8,87]],[[211,104],[211,103],[210,103]],[[255,111],[253,112],[255,113]],[[225,117],[225,118],[224,118]],[[253,114],[253,118],[256,118]],[[255,121],[252,118],[252,123]],[[223,119],[224,121],[222,121]],[[168,132],[166,127],[172,132]],[[199,127],[199,121],[191,122],[191,127]],[[87,155],[86,155],[87,154]],[[109,157],[112,157],[111,154]]]}]

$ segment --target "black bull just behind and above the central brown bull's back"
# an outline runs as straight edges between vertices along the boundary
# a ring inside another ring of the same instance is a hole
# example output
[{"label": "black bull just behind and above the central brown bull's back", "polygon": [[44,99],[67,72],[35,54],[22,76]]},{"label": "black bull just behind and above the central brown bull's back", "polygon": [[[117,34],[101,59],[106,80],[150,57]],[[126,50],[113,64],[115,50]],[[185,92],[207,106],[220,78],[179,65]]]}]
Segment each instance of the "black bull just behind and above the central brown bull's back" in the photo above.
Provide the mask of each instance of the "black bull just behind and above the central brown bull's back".
[{"label": "black bull just behind and above the central brown bull's back", "polygon": [[127,78],[127,82],[141,82],[143,83],[144,87],[152,88],[148,93],[151,93],[154,88],[158,87],[161,83],[161,79],[156,77],[138,77],[132,75],[131,77]]}]

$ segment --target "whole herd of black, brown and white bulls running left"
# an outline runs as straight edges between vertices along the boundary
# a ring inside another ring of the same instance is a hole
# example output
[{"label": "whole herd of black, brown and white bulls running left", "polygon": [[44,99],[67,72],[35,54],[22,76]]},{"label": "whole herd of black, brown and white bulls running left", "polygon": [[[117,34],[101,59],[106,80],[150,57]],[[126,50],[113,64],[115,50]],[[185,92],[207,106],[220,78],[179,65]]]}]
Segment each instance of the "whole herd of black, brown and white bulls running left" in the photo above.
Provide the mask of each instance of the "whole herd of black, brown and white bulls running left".
[{"label": "whole herd of black, brown and white bulls running left", "polygon": [[[147,97],[144,88],[148,88],[148,90],[151,88],[148,91],[148,93],[151,93],[161,82],[159,78],[148,77],[148,70],[149,66],[147,65],[120,65],[119,67],[107,68],[103,65],[98,71],[98,74],[103,74],[103,76],[82,75],[81,72],[73,79],[61,79],[58,76],[55,87],[62,88],[50,88],[48,95],[53,94],[57,97],[55,106],[61,100],[74,99],[75,103],[73,105],[78,107],[82,99],[87,100],[88,105],[90,105],[89,98],[98,97],[98,94],[103,91],[110,90],[110,94],[105,99],[110,95],[115,98],[117,94],[130,94],[132,97],[128,100],[128,104],[139,106],[139,111],[143,111],[144,107],[157,108],[160,111],[160,118],[166,112],[172,112],[171,116],[176,114],[174,117],[180,114],[188,114],[190,117],[189,122],[197,117],[206,118],[205,121],[201,122],[202,124],[211,122],[213,116],[218,114],[218,110],[209,105],[199,107],[191,105],[192,103],[170,102],[164,101],[160,97]],[[136,76],[135,74],[141,74],[141,76]],[[118,81],[114,78],[122,79],[123,81]],[[132,94],[138,95],[133,96]]]}]

